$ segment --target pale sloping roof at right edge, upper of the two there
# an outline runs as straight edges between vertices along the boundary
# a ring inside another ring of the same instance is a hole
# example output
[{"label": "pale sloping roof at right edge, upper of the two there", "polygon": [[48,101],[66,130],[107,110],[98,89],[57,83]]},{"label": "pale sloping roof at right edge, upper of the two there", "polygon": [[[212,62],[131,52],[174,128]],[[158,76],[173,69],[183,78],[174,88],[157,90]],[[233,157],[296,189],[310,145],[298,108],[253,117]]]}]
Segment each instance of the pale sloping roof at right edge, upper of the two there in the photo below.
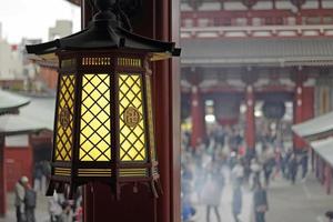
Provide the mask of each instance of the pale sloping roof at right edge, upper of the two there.
[{"label": "pale sloping roof at right edge, upper of the two there", "polygon": [[300,137],[307,140],[325,138],[333,134],[333,112],[326,113],[295,124],[292,130]]}]

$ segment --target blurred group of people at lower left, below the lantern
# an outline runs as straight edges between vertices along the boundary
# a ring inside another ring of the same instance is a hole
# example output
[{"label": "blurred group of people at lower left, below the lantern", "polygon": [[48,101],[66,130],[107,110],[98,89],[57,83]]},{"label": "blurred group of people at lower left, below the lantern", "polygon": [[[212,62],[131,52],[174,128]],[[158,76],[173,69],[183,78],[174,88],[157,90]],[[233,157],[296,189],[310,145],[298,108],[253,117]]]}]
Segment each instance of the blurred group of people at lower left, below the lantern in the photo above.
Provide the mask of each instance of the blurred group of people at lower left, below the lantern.
[{"label": "blurred group of people at lower left, below the lantern", "polygon": [[[33,171],[33,185],[23,175],[16,183],[14,206],[18,222],[36,222],[36,208],[39,206],[38,195],[44,195],[47,184],[51,174],[48,161],[38,162]],[[53,193],[48,199],[50,222],[82,222],[82,190],[78,189],[73,200],[67,199],[63,194]]]}]

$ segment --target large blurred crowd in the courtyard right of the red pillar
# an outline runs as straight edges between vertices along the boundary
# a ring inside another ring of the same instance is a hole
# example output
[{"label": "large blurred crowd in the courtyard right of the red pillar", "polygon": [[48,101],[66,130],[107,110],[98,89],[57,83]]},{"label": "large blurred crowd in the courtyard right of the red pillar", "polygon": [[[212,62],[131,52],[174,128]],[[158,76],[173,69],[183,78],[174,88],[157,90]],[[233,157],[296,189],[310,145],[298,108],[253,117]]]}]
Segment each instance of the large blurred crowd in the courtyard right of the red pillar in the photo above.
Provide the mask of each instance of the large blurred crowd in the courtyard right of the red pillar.
[{"label": "large blurred crowd in the courtyard right of the red pillar", "polygon": [[216,127],[194,148],[190,144],[190,132],[183,132],[181,175],[184,222],[195,221],[198,205],[205,206],[206,222],[211,221],[212,211],[218,222],[223,221],[219,209],[226,181],[232,185],[231,213],[234,221],[240,221],[243,191],[249,191],[253,195],[255,222],[264,222],[269,210],[266,188],[271,180],[283,176],[293,184],[300,165],[302,179],[305,179],[307,152],[294,153],[291,148],[284,148],[268,135],[258,139],[260,149],[249,152],[239,129],[238,125],[226,129]]}]

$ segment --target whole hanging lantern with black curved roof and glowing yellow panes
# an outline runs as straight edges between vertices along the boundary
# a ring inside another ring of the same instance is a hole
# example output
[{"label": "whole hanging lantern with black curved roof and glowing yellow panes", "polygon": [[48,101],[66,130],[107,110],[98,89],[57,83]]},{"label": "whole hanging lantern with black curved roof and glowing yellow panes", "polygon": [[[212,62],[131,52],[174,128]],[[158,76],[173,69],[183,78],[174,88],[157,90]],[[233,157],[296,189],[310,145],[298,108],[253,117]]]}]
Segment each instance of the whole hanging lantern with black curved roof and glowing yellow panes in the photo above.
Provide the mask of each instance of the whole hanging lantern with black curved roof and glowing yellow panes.
[{"label": "whole hanging lantern with black curved roof and glowing yellow panes", "polygon": [[[131,32],[115,0],[97,0],[99,12],[83,31],[27,46],[38,59],[59,62],[51,181],[47,194],[99,181],[148,184],[157,196],[150,62],[179,56],[173,42]],[[124,29],[125,27],[127,29]]]}]

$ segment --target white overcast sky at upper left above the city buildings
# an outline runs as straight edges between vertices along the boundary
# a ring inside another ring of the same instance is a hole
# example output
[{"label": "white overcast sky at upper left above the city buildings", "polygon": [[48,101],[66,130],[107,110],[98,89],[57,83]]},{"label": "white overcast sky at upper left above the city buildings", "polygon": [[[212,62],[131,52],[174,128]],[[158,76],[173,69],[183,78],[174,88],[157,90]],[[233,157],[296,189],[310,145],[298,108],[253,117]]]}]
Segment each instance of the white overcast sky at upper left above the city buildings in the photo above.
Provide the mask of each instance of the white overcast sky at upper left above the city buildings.
[{"label": "white overcast sky at upper left above the city buildings", "polygon": [[73,32],[80,30],[80,7],[64,0],[0,0],[2,38],[19,43],[22,38],[42,38],[48,41],[48,30],[56,20],[73,21]]}]

